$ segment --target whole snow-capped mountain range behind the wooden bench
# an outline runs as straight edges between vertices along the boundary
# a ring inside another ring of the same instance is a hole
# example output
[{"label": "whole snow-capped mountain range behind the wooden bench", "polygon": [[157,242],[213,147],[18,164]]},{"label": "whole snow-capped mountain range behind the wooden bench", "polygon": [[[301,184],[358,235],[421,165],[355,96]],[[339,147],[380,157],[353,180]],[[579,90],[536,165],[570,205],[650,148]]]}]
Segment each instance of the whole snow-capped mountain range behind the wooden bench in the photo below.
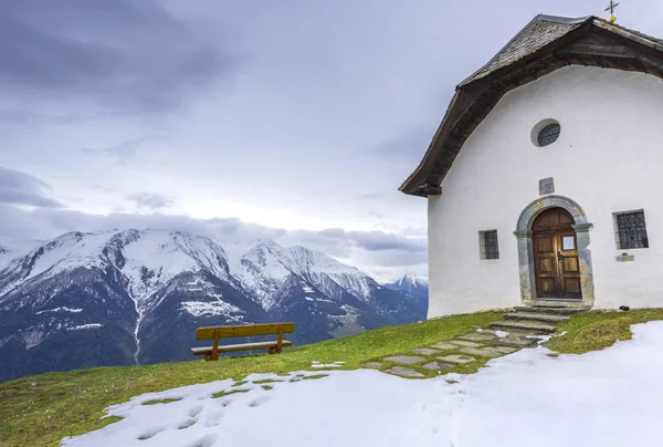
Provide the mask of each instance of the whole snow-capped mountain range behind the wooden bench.
[{"label": "whole snow-capped mountain range behind the wooden bench", "polygon": [[0,264],[0,381],[191,360],[201,325],[294,321],[301,344],[424,315],[413,295],[303,247],[260,241],[230,260],[180,231],[70,232]]}]

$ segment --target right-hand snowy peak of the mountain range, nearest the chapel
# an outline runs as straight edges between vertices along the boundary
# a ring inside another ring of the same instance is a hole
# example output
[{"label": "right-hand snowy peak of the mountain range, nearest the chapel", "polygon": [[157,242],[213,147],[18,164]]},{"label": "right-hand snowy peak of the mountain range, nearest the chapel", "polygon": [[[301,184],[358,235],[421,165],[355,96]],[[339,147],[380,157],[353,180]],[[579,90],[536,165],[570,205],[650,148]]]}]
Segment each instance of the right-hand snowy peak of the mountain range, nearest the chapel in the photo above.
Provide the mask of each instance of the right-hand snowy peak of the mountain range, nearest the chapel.
[{"label": "right-hand snowy peak of the mountain range, nearest the chapel", "polygon": [[265,311],[276,320],[295,321],[298,336],[309,342],[412,322],[424,314],[411,297],[303,247],[262,241],[241,258],[234,273]]}]

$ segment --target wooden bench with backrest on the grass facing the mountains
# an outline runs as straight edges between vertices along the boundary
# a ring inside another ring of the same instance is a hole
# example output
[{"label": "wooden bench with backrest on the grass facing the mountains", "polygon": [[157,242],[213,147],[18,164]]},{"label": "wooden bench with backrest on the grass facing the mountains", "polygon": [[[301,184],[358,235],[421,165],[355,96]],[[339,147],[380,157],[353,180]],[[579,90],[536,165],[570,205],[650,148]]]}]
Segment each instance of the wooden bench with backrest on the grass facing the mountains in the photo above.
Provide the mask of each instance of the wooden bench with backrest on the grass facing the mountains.
[{"label": "wooden bench with backrest on the grass facing the mountains", "polygon": [[[203,355],[204,360],[219,360],[220,352],[267,350],[270,354],[281,354],[283,346],[292,346],[293,342],[283,340],[283,334],[295,332],[295,323],[241,324],[236,326],[198,328],[196,340],[213,340],[212,346],[191,347],[191,354]],[[240,336],[276,335],[276,340],[257,343],[240,343],[219,345],[220,339]]]}]

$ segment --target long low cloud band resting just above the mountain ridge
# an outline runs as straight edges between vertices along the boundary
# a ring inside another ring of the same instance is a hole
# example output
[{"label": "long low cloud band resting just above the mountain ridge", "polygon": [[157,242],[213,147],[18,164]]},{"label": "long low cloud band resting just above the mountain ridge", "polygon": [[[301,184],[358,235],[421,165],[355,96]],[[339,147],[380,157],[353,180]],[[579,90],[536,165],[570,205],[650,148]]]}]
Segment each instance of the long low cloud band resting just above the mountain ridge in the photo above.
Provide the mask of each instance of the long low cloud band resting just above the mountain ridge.
[{"label": "long low cloud band resting just above the mountain ridge", "polygon": [[[17,239],[48,239],[73,230],[165,228],[208,236],[221,246],[273,239],[284,247],[303,246],[336,258],[349,259],[350,263],[365,271],[373,268],[393,270],[397,267],[400,268],[399,271],[408,271],[411,267],[425,263],[428,257],[425,238],[406,238],[380,231],[345,231],[336,228],[322,231],[291,231],[248,224],[236,218],[203,220],[158,212],[103,216],[66,209],[23,210],[3,208],[1,205],[0,215],[7,216],[7,219],[0,219],[0,235]],[[359,254],[359,258],[355,258],[357,249],[362,250],[364,253]]]}]

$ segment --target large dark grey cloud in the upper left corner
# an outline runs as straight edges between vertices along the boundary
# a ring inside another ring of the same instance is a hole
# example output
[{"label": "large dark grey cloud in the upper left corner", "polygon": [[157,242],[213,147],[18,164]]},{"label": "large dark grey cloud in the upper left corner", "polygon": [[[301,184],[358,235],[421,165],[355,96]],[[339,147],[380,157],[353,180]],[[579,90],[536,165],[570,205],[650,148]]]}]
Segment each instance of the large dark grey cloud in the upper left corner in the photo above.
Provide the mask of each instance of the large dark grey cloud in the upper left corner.
[{"label": "large dark grey cloud in the upper left corner", "polygon": [[189,87],[234,65],[151,0],[6,1],[0,41],[8,92],[78,94],[123,108],[178,105]]}]

